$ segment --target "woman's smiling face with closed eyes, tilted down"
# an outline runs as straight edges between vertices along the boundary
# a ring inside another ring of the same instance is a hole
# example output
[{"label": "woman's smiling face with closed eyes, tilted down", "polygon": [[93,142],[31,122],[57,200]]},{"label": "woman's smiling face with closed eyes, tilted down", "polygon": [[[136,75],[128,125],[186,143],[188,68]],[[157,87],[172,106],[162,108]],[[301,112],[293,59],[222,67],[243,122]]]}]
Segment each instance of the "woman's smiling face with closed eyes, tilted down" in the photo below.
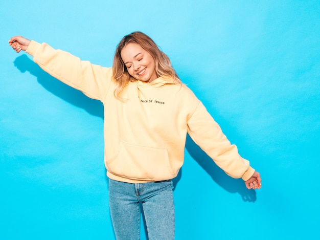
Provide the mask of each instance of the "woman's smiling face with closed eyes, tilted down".
[{"label": "woman's smiling face with closed eyes, tilted down", "polygon": [[147,82],[158,78],[153,57],[139,44],[128,43],[121,51],[121,58],[133,78]]}]

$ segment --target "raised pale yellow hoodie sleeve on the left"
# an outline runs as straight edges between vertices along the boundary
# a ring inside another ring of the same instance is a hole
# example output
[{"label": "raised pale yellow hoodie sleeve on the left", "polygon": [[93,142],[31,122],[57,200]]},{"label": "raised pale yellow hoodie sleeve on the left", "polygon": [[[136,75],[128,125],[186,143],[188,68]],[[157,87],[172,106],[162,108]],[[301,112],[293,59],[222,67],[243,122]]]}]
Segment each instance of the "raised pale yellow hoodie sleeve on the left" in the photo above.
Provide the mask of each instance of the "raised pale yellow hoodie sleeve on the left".
[{"label": "raised pale yellow hoodie sleeve on the left", "polygon": [[45,72],[90,98],[103,101],[110,88],[112,68],[82,61],[70,53],[53,49],[47,43],[33,40],[26,52]]}]

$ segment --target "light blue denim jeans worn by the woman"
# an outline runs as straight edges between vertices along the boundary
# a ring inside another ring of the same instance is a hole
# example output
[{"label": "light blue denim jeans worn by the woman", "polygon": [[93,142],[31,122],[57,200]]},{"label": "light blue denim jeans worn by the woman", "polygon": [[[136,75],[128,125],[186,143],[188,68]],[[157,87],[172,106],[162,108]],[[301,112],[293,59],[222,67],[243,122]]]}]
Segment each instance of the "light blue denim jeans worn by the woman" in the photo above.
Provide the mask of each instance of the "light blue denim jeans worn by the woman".
[{"label": "light blue denim jeans worn by the woman", "polygon": [[132,184],[109,179],[110,214],[117,240],[140,239],[141,205],[149,240],[173,240],[175,225],[171,180]]}]

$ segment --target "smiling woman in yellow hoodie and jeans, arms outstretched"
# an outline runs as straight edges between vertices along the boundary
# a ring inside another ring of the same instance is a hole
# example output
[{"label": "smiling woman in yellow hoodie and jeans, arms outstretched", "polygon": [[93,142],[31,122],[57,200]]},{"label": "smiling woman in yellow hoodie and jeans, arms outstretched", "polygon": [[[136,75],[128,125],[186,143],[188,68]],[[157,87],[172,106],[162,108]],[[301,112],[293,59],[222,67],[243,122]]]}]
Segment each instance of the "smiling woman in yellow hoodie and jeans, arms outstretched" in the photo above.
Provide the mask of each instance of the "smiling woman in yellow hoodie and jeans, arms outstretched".
[{"label": "smiling woman in yellow hoodie and jeans, arms outstretched", "polygon": [[242,178],[248,189],[260,189],[260,174],[240,157],[147,35],[123,37],[112,68],[21,36],[9,44],[31,54],[52,76],[103,102],[109,206],[117,239],[140,238],[140,203],[149,239],[174,239],[171,179],[183,164],[187,133],[228,175]]}]

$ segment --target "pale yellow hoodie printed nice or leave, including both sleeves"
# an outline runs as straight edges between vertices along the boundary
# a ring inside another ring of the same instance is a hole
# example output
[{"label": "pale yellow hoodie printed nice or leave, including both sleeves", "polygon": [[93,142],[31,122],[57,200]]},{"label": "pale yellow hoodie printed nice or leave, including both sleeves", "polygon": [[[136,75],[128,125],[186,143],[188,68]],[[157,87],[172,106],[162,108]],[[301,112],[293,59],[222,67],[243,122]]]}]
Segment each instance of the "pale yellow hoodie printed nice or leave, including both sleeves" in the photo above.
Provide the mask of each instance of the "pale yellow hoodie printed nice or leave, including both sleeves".
[{"label": "pale yellow hoodie printed nice or leave, including both sleeves", "polygon": [[122,102],[113,92],[112,68],[81,61],[46,43],[27,51],[45,71],[104,105],[104,161],[110,179],[144,183],[172,179],[184,162],[187,132],[233,178],[249,179],[254,169],[241,158],[203,104],[184,84],[159,77],[134,81]]}]

